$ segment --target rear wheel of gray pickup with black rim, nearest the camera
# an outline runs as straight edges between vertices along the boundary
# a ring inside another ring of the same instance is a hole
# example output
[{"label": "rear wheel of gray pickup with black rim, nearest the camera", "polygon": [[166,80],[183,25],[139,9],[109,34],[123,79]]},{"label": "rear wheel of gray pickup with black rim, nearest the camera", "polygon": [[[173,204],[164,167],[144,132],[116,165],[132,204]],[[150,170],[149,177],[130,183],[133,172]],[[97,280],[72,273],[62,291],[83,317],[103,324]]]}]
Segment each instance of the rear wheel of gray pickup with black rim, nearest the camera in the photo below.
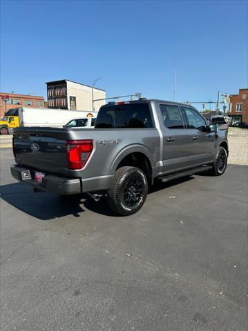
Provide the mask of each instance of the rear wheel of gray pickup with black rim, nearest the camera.
[{"label": "rear wheel of gray pickup with black rim, nearest the camera", "polygon": [[117,214],[134,214],[144,204],[148,192],[146,175],[136,167],[125,166],[115,172],[107,192],[108,204]]}]

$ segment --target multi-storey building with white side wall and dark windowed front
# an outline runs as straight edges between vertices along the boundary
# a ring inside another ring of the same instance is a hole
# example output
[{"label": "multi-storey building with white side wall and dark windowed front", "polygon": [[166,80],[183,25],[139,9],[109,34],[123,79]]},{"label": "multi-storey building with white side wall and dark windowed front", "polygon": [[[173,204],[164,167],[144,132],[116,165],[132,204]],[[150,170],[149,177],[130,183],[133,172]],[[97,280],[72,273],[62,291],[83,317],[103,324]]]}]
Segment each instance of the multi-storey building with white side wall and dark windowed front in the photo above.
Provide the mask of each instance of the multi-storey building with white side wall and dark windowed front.
[{"label": "multi-storey building with white side wall and dark windowed front", "polygon": [[48,108],[97,112],[105,104],[105,100],[93,102],[93,100],[106,98],[106,92],[99,88],[92,88],[68,79],[49,81],[46,85]]}]

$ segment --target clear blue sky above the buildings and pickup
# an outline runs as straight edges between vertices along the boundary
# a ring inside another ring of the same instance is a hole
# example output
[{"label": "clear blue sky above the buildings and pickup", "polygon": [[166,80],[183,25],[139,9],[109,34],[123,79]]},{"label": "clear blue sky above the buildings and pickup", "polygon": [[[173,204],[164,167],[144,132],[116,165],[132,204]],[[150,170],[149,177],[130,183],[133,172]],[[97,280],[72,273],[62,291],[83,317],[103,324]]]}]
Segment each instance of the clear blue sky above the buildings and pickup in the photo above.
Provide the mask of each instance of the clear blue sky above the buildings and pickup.
[{"label": "clear blue sky above the buildings and pickup", "polygon": [[1,91],[102,77],[108,97],[173,100],[177,66],[177,101],[216,100],[247,88],[247,40],[247,1],[1,1]]}]

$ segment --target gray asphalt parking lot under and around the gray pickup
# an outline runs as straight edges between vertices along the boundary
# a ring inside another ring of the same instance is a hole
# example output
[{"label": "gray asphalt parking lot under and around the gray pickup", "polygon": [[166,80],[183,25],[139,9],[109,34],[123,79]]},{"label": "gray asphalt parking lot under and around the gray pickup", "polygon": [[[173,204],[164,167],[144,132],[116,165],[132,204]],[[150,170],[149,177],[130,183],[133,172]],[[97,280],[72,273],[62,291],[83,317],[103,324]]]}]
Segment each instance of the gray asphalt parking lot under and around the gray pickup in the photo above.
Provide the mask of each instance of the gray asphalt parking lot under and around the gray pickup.
[{"label": "gray asphalt parking lot under and around the gray pickup", "polygon": [[106,200],[33,193],[1,149],[1,330],[247,330],[247,165]]}]

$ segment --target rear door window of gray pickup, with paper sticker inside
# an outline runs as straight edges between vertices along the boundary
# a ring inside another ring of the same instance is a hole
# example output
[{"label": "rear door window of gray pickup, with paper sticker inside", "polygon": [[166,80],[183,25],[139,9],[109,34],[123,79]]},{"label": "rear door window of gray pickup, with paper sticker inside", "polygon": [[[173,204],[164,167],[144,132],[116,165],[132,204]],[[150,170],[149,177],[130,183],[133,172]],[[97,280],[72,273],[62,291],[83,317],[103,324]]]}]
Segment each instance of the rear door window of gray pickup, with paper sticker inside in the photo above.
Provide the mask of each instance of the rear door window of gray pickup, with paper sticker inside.
[{"label": "rear door window of gray pickup, with paper sticker inside", "polygon": [[178,106],[160,105],[164,126],[168,129],[184,129],[182,115]]}]

